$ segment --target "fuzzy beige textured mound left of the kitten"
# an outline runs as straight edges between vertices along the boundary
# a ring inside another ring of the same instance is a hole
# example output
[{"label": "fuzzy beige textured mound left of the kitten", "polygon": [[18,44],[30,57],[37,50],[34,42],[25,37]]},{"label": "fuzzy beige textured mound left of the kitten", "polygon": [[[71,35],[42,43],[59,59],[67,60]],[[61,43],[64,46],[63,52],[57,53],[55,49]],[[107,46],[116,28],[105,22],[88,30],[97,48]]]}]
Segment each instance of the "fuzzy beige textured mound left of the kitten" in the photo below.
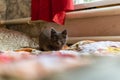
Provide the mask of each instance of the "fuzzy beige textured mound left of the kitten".
[{"label": "fuzzy beige textured mound left of the kitten", "polygon": [[38,44],[24,33],[0,28],[0,50],[15,50],[22,47],[38,47]]}]

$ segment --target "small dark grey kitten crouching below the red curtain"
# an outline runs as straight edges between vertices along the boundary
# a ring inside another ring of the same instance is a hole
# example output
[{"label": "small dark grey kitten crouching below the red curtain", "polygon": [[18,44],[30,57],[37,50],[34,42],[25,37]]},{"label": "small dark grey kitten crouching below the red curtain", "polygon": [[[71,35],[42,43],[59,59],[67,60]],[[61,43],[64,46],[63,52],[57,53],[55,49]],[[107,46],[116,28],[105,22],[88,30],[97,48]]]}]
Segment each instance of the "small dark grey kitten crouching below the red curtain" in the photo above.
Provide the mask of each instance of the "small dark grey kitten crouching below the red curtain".
[{"label": "small dark grey kitten crouching below the red curtain", "polygon": [[66,44],[67,30],[45,29],[39,35],[39,49],[44,51],[60,50]]}]

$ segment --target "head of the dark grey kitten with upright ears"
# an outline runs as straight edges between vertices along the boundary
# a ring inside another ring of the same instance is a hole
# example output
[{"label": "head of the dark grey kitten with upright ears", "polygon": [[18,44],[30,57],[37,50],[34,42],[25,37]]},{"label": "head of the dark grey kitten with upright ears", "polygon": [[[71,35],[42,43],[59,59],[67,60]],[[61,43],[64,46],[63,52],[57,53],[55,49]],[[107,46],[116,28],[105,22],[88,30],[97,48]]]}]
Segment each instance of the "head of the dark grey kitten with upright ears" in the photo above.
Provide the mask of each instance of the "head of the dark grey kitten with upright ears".
[{"label": "head of the dark grey kitten with upright ears", "polygon": [[54,28],[51,28],[51,44],[56,50],[61,49],[67,40],[67,30],[62,32],[56,31]]}]

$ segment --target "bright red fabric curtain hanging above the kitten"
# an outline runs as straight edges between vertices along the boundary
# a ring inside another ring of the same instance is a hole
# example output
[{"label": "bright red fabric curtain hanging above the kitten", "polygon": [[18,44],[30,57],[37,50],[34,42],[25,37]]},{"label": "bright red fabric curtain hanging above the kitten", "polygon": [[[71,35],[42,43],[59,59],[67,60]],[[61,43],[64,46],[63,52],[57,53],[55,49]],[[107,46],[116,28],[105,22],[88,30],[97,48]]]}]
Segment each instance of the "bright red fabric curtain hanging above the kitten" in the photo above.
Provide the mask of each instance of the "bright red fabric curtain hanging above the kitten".
[{"label": "bright red fabric curtain hanging above the kitten", "polygon": [[32,0],[31,20],[64,24],[66,11],[73,10],[72,0]]}]

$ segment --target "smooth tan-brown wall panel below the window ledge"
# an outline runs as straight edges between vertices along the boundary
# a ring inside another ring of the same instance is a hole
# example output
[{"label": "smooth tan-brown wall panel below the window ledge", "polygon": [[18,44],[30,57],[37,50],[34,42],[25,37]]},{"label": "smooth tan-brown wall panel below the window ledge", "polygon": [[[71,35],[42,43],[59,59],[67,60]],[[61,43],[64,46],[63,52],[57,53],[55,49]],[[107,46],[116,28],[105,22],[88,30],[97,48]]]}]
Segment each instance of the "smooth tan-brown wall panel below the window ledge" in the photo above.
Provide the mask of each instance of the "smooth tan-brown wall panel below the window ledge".
[{"label": "smooth tan-brown wall panel below the window ledge", "polygon": [[119,36],[120,15],[67,20],[65,27],[70,36]]}]

